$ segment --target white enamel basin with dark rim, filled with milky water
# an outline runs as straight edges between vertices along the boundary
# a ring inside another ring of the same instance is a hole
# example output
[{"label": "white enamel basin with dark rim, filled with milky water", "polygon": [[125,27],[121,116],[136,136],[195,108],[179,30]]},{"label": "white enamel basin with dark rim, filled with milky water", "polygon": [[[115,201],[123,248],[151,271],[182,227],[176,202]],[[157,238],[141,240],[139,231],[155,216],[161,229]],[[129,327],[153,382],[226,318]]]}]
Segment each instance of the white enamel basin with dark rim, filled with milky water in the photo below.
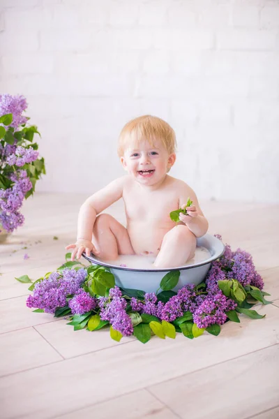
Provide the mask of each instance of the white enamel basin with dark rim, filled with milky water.
[{"label": "white enamel basin with dark rim, filled with milky water", "polygon": [[[146,293],[156,292],[160,286],[161,279],[174,270],[180,271],[179,283],[174,291],[179,290],[186,284],[199,284],[206,277],[211,266],[211,262],[222,256],[225,250],[224,244],[213,235],[206,234],[197,239],[197,249],[195,257],[183,266],[158,269],[152,266],[154,256],[119,256],[119,259],[112,261],[99,260],[91,254],[82,256],[89,260],[93,265],[103,265],[110,267],[110,272],[114,274],[117,286],[122,288],[135,288],[146,291]],[[120,266],[127,265],[127,266]]]}]

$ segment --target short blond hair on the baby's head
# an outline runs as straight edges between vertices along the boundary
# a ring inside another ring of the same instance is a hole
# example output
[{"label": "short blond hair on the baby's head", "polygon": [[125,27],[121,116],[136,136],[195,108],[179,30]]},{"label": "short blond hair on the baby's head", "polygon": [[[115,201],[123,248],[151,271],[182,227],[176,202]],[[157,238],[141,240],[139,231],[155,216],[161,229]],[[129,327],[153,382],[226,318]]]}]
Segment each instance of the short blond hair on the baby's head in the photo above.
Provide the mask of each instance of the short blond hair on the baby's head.
[{"label": "short blond hair on the baby's head", "polygon": [[127,122],[122,128],[117,148],[119,157],[123,156],[129,144],[137,147],[140,142],[146,140],[151,147],[154,146],[154,140],[161,140],[169,154],[176,151],[176,138],[172,127],[163,119],[152,115],[143,115]]}]

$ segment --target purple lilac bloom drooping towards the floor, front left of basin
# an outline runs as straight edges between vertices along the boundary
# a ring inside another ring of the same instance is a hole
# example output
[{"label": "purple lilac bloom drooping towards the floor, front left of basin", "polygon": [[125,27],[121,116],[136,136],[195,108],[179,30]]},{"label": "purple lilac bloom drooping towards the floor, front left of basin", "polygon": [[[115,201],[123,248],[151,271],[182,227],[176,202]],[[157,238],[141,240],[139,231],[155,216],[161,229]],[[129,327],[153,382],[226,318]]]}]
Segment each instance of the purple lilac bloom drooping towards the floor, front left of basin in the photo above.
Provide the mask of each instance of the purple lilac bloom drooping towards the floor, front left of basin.
[{"label": "purple lilac bloom drooping towards the floor, front left of basin", "polygon": [[109,321],[114,330],[118,330],[123,336],[133,335],[133,324],[130,316],[126,313],[127,302],[122,297],[113,297],[99,302],[100,318]]}]

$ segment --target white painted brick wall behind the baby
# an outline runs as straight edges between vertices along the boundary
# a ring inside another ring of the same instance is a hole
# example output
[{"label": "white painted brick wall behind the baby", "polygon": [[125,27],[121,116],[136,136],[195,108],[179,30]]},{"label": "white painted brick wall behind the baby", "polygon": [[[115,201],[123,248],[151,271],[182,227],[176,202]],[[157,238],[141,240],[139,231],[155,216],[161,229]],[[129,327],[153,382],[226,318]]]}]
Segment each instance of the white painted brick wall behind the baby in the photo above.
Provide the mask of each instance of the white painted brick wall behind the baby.
[{"label": "white painted brick wall behind the baby", "polygon": [[151,113],[199,198],[279,202],[279,0],[0,0],[0,56],[42,133],[38,190],[122,175],[119,131]]}]

